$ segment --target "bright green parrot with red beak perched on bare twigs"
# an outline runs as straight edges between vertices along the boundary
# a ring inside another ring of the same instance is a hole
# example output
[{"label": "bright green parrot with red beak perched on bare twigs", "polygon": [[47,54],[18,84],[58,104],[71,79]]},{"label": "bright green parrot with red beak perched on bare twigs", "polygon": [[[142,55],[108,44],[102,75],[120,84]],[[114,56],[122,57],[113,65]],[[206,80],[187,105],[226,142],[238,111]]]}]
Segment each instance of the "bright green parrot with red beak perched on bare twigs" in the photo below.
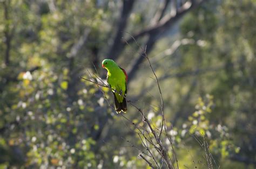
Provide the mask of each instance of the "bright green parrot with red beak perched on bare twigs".
[{"label": "bright green parrot with red beak perched on bare twigs", "polygon": [[125,70],[120,68],[116,62],[111,59],[103,60],[102,67],[107,69],[107,83],[109,83],[112,89],[117,113],[121,111],[126,112],[127,104],[125,96],[127,93],[127,74]]}]

